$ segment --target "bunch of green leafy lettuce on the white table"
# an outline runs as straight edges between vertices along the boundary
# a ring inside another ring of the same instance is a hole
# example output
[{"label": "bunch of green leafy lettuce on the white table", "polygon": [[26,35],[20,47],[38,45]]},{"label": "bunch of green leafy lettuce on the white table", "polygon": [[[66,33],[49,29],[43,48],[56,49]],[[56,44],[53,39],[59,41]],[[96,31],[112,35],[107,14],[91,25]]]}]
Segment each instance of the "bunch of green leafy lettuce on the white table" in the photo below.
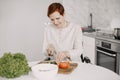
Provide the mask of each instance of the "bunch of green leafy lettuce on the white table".
[{"label": "bunch of green leafy lettuce on the white table", "polygon": [[4,53],[0,58],[0,76],[2,77],[15,78],[28,74],[30,70],[27,59],[22,53]]}]

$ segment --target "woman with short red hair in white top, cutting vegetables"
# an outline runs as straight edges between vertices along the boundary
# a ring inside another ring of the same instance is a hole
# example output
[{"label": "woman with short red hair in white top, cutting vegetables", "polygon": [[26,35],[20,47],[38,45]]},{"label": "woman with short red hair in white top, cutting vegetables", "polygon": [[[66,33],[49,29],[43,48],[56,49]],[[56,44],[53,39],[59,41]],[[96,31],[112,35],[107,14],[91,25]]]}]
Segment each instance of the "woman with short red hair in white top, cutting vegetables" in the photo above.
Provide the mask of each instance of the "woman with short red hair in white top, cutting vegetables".
[{"label": "woman with short red hair in white top, cutting vegetables", "polygon": [[51,23],[45,27],[43,53],[56,55],[57,62],[65,58],[79,60],[83,53],[81,27],[65,20],[64,15],[64,7],[60,3],[52,3],[48,7],[47,16]]}]

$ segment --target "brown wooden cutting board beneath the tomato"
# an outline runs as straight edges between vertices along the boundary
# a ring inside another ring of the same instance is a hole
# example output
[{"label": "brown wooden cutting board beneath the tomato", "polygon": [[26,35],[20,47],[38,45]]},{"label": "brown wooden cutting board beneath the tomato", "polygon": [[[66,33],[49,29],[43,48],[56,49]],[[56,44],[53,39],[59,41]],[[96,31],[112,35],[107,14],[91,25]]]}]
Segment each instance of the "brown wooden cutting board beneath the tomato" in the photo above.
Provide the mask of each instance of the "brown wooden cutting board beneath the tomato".
[{"label": "brown wooden cutting board beneath the tomato", "polygon": [[70,74],[74,71],[74,69],[78,66],[77,63],[70,63],[70,67],[67,69],[60,69],[58,70],[58,74]]}]

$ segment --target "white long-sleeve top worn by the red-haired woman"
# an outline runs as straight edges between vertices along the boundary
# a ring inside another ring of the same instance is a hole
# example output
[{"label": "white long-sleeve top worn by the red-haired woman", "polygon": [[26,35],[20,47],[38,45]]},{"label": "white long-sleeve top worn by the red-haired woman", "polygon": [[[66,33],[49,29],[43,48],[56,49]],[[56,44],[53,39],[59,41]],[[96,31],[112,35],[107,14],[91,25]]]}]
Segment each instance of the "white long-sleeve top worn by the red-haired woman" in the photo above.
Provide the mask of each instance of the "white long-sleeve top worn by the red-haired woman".
[{"label": "white long-sleeve top worn by the red-haired woman", "polygon": [[79,60],[83,53],[82,30],[79,25],[69,23],[59,29],[53,24],[47,25],[44,31],[43,53],[47,54],[47,46],[52,44],[56,52],[68,51],[72,60]]}]

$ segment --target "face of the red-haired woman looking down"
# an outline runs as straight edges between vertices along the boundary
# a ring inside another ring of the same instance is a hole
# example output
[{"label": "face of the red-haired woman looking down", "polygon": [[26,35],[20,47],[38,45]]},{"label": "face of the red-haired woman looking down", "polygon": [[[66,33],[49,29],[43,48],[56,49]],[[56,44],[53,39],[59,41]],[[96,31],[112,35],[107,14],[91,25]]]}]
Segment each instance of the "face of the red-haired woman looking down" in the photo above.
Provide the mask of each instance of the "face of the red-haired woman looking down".
[{"label": "face of the red-haired woman looking down", "polygon": [[65,19],[63,15],[60,15],[59,12],[54,12],[49,16],[51,22],[58,28],[62,28],[65,23]]}]

